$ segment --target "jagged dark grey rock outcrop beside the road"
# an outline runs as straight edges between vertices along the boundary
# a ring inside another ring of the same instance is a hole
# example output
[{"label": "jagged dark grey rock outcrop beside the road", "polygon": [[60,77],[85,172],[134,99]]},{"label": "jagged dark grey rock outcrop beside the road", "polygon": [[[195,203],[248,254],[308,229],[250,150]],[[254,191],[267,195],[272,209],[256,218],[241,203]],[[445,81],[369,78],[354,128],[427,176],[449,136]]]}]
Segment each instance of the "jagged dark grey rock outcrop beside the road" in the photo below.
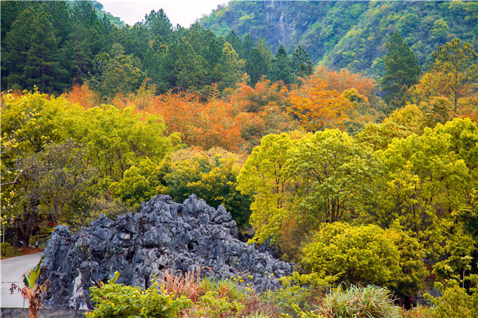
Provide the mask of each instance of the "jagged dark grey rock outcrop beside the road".
[{"label": "jagged dark grey rock outcrop beside the road", "polygon": [[153,197],[142,208],[115,221],[101,216],[75,235],[64,225],[56,227],[41,267],[40,280],[51,281],[45,305],[91,308],[89,288],[115,271],[117,283],[146,288],[164,270],[202,266],[219,279],[250,274],[258,290],[278,287],[277,278],[292,272],[290,264],[239,241],[224,206],[216,210],[193,194],[183,204]]}]

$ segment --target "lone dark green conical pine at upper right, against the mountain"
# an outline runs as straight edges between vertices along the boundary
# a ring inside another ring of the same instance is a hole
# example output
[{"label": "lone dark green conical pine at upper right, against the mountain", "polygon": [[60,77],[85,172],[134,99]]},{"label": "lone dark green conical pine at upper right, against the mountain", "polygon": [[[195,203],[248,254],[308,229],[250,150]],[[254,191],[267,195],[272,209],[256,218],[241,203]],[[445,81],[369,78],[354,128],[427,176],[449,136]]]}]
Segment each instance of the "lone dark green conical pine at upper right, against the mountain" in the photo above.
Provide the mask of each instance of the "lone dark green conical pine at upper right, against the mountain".
[{"label": "lone dark green conical pine at upper right, against the mountain", "polygon": [[422,71],[415,54],[397,32],[389,39],[387,50],[384,57],[385,75],[380,84],[385,102],[399,108],[405,105],[406,90],[418,83]]}]

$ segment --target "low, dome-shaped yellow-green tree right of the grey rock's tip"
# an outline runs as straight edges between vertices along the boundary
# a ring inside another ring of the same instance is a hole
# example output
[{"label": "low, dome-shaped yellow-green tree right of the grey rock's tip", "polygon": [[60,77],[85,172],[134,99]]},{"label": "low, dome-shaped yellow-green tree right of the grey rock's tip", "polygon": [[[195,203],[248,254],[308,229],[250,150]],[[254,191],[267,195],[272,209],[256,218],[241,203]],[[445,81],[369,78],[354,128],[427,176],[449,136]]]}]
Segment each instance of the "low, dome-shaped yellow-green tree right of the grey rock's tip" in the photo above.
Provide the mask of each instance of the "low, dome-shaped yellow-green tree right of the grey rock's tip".
[{"label": "low, dome-shaped yellow-green tree right of the grey rock's tip", "polygon": [[398,247],[376,225],[323,225],[302,252],[306,270],[347,284],[396,287],[401,274]]}]

